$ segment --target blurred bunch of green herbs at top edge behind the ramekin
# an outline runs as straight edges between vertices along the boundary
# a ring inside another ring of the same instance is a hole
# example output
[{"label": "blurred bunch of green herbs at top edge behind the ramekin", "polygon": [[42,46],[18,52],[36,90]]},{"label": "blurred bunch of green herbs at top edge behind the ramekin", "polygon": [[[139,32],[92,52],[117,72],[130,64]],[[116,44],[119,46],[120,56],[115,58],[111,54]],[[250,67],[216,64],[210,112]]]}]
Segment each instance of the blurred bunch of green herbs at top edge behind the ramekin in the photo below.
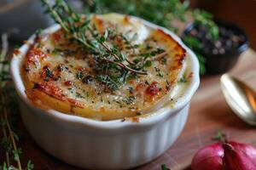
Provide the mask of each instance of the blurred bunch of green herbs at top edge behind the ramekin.
[{"label": "blurred bunch of green herbs at top edge behind the ramekin", "polygon": [[132,14],[150,20],[157,25],[165,26],[172,31],[177,30],[172,20],[186,20],[184,15],[189,8],[189,0],[82,0],[84,13],[106,14],[118,12]]}]

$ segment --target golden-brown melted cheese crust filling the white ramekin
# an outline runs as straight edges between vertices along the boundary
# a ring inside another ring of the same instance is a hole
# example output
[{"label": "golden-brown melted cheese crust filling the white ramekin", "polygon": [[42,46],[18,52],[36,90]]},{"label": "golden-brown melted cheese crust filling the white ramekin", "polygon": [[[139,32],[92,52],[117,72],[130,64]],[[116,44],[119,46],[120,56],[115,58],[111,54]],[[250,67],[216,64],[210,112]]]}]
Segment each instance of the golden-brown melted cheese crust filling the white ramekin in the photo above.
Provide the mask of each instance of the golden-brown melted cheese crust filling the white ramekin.
[{"label": "golden-brown melted cheese crust filling the white ramekin", "polygon": [[[69,42],[64,31],[42,34],[26,54],[24,82],[26,94],[35,105],[97,120],[113,120],[159,109],[169,100],[183,68],[185,50],[168,34],[143,25],[140,20],[121,14],[93,15],[91,24],[103,33],[117,28],[137,44],[136,53],[145,54],[157,48],[166,55],[156,57],[146,68],[148,75],[137,75],[118,90],[109,92],[96,81],[93,56]],[[125,42],[113,39],[124,54],[131,49]],[[133,56],[129,57],[131,60]]]}]

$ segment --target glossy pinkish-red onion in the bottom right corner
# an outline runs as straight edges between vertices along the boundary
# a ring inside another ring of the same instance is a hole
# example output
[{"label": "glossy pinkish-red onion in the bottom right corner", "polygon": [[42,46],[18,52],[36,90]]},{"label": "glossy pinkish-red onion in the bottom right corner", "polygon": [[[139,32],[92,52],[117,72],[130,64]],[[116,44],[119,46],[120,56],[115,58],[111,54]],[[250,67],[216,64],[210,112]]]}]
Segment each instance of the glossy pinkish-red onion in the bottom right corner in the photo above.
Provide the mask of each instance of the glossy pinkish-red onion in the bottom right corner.
[{"label": "glossy pinkish-red onion in the bottom right corner", "polygon": [[207,145],[195,154],[193,170],[256,170],[256,148],[234,141]]}]

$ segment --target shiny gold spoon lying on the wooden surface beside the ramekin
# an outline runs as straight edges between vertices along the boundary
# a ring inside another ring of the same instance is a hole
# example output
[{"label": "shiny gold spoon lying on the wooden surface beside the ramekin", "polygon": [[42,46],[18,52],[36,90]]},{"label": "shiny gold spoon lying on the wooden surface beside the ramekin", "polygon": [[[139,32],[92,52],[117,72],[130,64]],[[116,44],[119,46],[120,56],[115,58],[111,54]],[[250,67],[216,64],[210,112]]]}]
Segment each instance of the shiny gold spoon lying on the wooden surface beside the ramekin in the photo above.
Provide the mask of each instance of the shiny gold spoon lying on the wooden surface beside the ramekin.
[{"label": "shiny gold spoon lying on the wooden surface beside the ramekin", "polygon": [[253,89],[229,74],[220,78],[220,87],[231,110],[244,122],[256,126],[256,93]]}]

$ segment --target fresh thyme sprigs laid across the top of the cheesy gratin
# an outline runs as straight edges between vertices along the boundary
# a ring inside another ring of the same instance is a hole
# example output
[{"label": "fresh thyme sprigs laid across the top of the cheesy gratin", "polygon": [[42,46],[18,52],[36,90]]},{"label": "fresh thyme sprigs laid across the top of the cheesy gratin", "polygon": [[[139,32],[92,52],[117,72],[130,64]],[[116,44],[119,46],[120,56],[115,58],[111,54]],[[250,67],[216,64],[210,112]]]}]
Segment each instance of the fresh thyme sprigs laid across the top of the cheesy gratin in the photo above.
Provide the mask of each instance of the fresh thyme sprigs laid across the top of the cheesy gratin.
[{"label": "fresh thyme sprigs laid across the top of the cheesy gratin", "polygon": [[[128,77],[134,75],[147,75],[142,66],[128,59],[113,43],[108,41],[109,32],[102,35],[96,30],[96,26],[90,25],[90,17],[77,14],[63,0],[55,0],[50,4],[49,0],[41,0],[48,13],[61,28],[79,42],[88,53],[94,54],[97,68],[96,80],[115,90],[124,84]],[[128,41],[125,39],[125,41]]]}]

